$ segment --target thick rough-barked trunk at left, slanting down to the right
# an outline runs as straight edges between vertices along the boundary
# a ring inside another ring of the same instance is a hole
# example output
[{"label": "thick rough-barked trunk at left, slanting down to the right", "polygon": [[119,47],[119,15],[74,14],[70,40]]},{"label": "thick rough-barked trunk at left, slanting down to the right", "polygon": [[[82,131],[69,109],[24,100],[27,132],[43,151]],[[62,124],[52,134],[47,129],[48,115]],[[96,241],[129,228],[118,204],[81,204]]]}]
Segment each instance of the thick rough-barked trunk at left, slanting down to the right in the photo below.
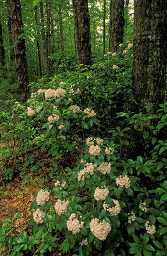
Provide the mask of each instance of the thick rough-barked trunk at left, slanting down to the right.
[{"label": "thick rough-barked trunk at left, slanting down to the right", "polygon": [[22,13],[20,0],[7,0],[10,30],[14,45],[16,62],[16,81],[19,84],[18,94],[24,94],[24,99],[29,98],[28,67],[26,61],[26,43],[24,39]]}]

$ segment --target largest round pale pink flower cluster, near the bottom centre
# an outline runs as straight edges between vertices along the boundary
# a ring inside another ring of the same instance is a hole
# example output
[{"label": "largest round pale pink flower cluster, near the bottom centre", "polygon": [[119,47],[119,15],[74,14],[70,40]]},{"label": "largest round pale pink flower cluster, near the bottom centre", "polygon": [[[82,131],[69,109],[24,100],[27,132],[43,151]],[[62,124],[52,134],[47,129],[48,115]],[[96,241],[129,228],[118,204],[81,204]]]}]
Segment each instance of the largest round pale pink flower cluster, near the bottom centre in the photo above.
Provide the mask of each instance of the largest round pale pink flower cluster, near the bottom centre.
[{"label": "largest round pale pink flower cluster, near the bottom centre", "polygon": [[90,230],[95,237],[101,241],[104,241],[111,231],[111,225],[104,220],[100,221],[99,219],[95,218],[90,222]]}]

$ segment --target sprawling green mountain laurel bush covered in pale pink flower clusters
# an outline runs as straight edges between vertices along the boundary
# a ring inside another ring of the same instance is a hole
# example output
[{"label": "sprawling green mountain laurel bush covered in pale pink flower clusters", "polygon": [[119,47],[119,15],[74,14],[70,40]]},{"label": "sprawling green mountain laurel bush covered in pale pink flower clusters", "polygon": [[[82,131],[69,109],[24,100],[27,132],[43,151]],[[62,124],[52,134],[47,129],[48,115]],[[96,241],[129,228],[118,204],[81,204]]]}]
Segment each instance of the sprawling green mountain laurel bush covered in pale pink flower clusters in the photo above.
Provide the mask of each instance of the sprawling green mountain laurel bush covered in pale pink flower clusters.
[{"label": "sprawling green mountain laurel bush covered in pale pink flower clusters", "polygon": [[[91,70],[65,72],[42,88],[33,84],[27,106],[13,107],[17,140],[60,163],[77,152],[77,161],[60,166],[54,186],[35,195],[33,234],[11,237],[13,222],[4,220],[0,244],[12,255],[166,255],[166,102],[157,115],[125,111],[132,45],[122,47]],[[147,145],[135,159],[134,131]]]}]

